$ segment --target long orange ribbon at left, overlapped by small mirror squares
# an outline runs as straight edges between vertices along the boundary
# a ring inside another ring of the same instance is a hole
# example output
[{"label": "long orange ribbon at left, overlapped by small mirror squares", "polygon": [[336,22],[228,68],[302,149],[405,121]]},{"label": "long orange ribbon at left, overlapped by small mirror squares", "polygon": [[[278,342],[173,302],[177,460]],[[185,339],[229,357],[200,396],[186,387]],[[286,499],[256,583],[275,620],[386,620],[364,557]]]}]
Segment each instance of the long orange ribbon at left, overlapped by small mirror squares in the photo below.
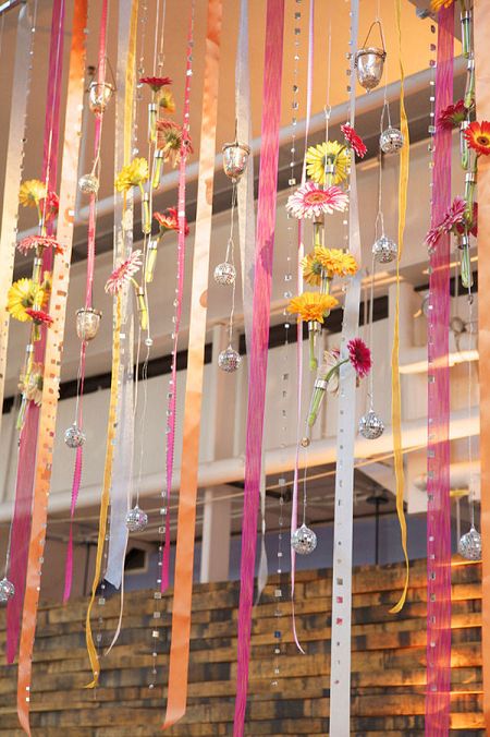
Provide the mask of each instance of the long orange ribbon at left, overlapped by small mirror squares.
[{"label": "long orange ribbon at left, overlapped by small mirror squares", "polygon": [[[60,212],[57,238],[63,252],[57,255],[52,274],[50,313],[53,323],[46,342],[46,366],[42,384],[42,404],[39,418],[39,443],[34,485],[32,528],[28,547],[27,579],[22,618],[22,633],[17,673],[17,713],[22,728],[30,735],[29,691],[32,657],[39,604],[40,575],[46,543],[48,497],[51,482],[53,438],[56,432],[61,351],[70,279],[76,172],[82,130],[82,109],[85,72],[85,28],[87,0],[76,0],[73,15],[70,50],[69,87],[66,96],[63,165],[61,172]],[[49,105],[49,101],[48,101]]]}]

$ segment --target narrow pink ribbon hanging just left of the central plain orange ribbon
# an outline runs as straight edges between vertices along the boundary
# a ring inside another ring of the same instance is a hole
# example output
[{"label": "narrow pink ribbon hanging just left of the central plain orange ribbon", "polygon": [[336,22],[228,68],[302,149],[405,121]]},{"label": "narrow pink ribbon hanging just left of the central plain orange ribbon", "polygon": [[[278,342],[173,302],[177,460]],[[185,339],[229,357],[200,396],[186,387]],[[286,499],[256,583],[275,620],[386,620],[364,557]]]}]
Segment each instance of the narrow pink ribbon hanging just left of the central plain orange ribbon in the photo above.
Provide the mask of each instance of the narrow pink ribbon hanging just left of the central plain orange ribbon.
[{"label": "narrow pink ribbon hanging just left of the central plain orange ribbon", "polygon": [[167,515],[166,515],[166,533],[163,543],[163,555],[161,559],[161,591],[167,591],[170,582],[170,495],[172,491],[172,476],[175,450],[175,420],[176,420],[176,390],[177,390],[177,366],[176,355],[179,349],[179,334],[181,329],[182,318],[182,300],[184,297],[184,277],[185,277],[185,172],[187,168],[187,155],[189,140],[189,118],[191,118],[191,80],[193,68],[193,47],[194,47],[194,13],[195,0],[191,7],[191,15],[188,22],[187,34],[187,63],[185,70],[185,90],[184,90],[184,121],[182,124],[182,146],[181,159],[179,162],[179,240],[177,240],[177,286],[176,286],[176,309],[175,323],[173,325],[173,346],[172,346],[172,373],[169,388],[169,402],[167,406],[167,447],[166,447],[166,496],[167,496]]}]

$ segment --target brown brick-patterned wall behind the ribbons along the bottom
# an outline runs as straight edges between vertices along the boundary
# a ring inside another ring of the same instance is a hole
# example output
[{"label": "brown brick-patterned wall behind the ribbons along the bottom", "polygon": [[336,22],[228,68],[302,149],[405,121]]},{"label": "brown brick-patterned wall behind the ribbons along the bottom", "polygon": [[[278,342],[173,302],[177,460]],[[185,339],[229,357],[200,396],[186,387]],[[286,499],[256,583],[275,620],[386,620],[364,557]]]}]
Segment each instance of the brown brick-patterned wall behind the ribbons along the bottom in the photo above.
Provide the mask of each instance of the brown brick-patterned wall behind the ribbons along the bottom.
[{"label": "brown brick-patterned wall behind the ribbons along the bottom", "polygon": [[[481,715],[481,591],[479,565],[453,566],[451,735],[483,735]],[[363,737],[424,735],[426,661],[425,561],[412,568],[408,600],[391,615],[402,582],[399,566],[359,568],[354,579],[352,734]],[[291,636],[290,606],[277,608],[274,580],[255,609],[247,735],[328,735],[331,571],[298,575],[297,620],[302,655]],[[286,593],[284,582],[284,593]],[[185,721],[168,735],[231,735],[236,673],[237,583],[196,585],[193,604],[189,699]],[[32,688],[33,735],[44,737],[143,737],[159,735],[164,706],[170,636],[170,596],[152,618],[148,592],[126,595],[119,644],[102,661],[101,687],[89,681],[85,650],[86,602],[41,608]],[[118,597],[95,607],[103,642],[117,624]],[[3,648],[4,612],[0,613]],[[151,676],[152,630],[160,631],[158,686]],[[280,675],[273,673],[274,631],[282,630]],[[271,681],[278,679],[278,686]],[[0,733],[21,735],[15,714],[15,666],[0,667]],[[334,737],[334,736],[332,736]]]}]

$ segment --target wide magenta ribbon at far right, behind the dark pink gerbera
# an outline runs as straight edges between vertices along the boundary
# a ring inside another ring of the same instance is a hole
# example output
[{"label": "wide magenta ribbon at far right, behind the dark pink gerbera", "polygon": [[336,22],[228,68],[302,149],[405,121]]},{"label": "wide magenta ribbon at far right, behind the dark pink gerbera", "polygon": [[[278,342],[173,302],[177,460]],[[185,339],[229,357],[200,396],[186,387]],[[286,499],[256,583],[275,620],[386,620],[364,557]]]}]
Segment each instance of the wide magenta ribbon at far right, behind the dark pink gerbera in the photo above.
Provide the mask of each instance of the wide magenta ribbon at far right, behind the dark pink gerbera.
[{"label": "wide magenta ribbon at far right, behind the dark pink gerbera", "polygon": [[[436,121],[453,101],[454,5],[439,11]],[[452,132],[438,125],[432,174],[432,227],[451,204]],[[427,692],[426,735],[450,728],[451,691],[451,499],[450,499],[450,235],[430,256],[428,321],[427,451]]]}]

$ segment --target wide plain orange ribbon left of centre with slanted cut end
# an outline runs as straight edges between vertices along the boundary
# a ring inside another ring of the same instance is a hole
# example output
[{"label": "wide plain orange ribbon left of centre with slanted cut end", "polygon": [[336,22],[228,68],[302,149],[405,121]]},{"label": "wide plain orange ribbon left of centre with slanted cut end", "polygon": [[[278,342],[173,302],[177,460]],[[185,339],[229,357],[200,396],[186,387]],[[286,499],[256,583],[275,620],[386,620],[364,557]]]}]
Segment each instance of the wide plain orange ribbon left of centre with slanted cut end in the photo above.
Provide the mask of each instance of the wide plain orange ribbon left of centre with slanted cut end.
[{"label": "wide plain orange ribbon left of centre with slanted cut end", "polygon": [[[197,190],[187,380],[185,386],[181,488],[179,496],[175,584],[172,607],[169,691],[163,728],[184,714],[187,701],[191,606],[196,527],[197,470],[206,341],[207,289],[211,240],[216,126],[221,56],[222,0],[208,0],[199,185]],[[180,230],[182,223],[180,225]]]}]

